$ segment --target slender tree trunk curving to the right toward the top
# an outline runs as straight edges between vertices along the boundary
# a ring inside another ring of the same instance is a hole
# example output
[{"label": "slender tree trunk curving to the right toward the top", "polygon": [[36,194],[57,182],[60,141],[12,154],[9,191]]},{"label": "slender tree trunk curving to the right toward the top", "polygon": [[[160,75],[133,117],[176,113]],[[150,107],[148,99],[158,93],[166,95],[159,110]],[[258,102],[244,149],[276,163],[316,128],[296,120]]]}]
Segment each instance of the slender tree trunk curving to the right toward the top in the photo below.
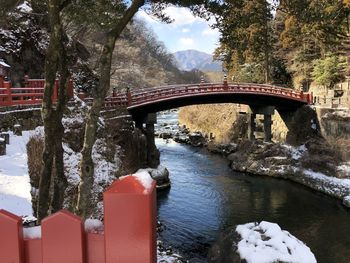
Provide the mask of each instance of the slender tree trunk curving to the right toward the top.
[{"label": "slender tree trunk curving to the right toward the top", "polygon": [[110,73],[115,42],[134,14],[143,6],[144,2],[144,0],[134,0],[132,2],[124,15],[116,21],[113,29],[107,33],[103,46],[99,65],[100,84],[98,90],[93,94],[94,101],[85,126],[84,145],[80,163],[81,181],[78,189],[76,213],[83,218],[88,218],[91,213],[91,190],[94,183],[92,148],[96,141],[97,121],[100,116],[100,111],[103,107],[107,92],[110,89]]}]

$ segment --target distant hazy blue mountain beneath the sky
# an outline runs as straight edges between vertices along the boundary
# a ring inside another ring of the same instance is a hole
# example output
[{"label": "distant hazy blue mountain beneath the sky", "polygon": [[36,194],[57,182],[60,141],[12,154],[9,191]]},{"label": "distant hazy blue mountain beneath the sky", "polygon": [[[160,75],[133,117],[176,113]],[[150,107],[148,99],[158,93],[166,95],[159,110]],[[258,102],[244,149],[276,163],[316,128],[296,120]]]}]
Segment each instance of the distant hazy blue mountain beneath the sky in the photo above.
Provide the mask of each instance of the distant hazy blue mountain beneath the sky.
[{"label": "distant hazy blue mountain beneath the sky", "polygon": [[197,50],[184,50],[174,53],[179,69],[190,71],[199,69],[201,71],[222,71],[222,63],[213,62],[213,56]]}]

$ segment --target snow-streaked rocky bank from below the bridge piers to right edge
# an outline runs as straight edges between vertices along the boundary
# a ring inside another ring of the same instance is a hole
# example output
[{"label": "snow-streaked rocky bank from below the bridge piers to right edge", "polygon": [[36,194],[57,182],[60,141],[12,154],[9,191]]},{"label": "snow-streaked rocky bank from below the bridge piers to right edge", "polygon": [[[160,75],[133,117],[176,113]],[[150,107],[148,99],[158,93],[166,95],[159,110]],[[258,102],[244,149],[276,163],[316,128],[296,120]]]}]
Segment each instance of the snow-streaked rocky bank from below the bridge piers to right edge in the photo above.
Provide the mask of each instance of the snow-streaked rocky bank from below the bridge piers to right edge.
[{"label": "snow-streaked rocky bank from below the bridge piers to right edge", "polygon": [[[334,156],[315,151],[310,143],[299,147],[262,142],[244,142],[228,156],[235,171],[289,179],[314,190],[339,198],[343,204],[350,196],[350,163],[334,161]],[[310,150],[311,149],[311,150]],[[322,155],[323,154],[323,155]],[[322,172],[323,171],[323,172]]]}]

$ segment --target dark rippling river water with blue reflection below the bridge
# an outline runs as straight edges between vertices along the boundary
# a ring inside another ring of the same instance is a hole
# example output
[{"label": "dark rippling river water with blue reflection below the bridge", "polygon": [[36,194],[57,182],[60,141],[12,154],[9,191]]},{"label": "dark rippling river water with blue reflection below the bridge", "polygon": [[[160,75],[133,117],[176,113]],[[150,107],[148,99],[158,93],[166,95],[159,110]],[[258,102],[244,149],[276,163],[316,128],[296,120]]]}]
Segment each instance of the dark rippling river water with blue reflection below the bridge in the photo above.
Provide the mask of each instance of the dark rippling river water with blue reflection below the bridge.
[{"label": "dark rippling river water with blue reflection below the bridge", "polygon": [[318,262],[350,262],[350,210],[298,184],[233,172],[204,149],[157,139],[172,187],[158,195],[160,239],[190,262],[206,262],[219,233],[252,221],[278,223]]}]

